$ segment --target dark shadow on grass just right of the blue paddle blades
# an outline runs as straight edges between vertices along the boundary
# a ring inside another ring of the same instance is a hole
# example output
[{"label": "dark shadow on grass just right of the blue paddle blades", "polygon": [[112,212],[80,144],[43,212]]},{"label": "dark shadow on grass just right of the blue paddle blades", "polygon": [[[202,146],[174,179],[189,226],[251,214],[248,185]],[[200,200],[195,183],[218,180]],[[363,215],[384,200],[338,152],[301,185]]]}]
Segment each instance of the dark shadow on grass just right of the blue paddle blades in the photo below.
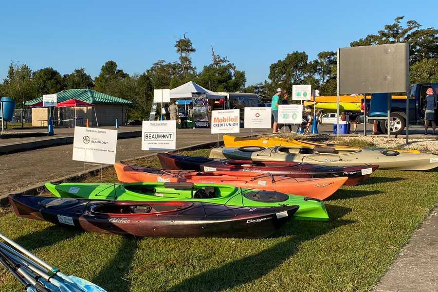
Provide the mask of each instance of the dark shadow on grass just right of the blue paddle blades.
[{"label": "dark shadow on grass just right of the blue paddle blades", "polygon": [[129,291],[130,281],[124,277],[129,274],[131,263],[141,238],[124,236],[117,252],[92,280],[92,283],[105,287],[108,292]]}]

